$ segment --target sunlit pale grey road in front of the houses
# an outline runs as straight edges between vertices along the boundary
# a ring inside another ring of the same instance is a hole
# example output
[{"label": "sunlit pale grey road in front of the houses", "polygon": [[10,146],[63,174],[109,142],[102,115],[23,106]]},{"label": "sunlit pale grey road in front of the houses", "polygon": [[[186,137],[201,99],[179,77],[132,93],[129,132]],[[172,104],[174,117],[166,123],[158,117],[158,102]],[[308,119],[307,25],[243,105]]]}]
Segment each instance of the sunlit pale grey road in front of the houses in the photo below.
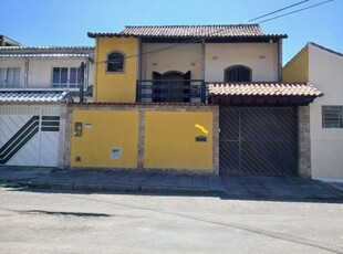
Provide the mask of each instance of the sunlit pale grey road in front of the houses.
[{"label": "sunlit pale grey road in front of the houses", "polygon": [[0,188],[1,253],[343,253],[343,204]]}]

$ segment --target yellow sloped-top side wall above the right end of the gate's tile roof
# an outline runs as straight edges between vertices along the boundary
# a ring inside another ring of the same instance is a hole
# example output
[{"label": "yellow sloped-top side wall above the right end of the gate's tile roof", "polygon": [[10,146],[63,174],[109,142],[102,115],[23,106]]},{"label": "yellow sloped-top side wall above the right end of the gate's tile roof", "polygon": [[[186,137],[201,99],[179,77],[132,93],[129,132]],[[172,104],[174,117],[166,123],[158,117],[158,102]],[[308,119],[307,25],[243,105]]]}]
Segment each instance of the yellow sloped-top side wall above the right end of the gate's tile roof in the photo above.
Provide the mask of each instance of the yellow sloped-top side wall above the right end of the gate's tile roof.
[{"label": "yellow sloped-top side wall above the right end of the gate's tile roof", "polygon": [[309,47],[304,47],[282,70],[283,82],[309,82]]}]

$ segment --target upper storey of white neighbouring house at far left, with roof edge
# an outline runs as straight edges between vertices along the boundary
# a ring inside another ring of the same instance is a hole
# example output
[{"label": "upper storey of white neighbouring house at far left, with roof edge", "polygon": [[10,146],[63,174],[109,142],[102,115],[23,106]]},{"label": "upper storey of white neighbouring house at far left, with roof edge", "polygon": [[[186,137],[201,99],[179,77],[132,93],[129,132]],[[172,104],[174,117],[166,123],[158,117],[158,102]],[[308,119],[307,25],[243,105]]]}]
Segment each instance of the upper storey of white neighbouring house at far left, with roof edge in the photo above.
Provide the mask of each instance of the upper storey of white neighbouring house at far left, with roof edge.
[{"label": "upper storey of white neighbouring house at far left, with roof edge", "polygon": [[77,92],[83,81],[87,91],[93,85],[93,46],[0,46],[0,89]]}]

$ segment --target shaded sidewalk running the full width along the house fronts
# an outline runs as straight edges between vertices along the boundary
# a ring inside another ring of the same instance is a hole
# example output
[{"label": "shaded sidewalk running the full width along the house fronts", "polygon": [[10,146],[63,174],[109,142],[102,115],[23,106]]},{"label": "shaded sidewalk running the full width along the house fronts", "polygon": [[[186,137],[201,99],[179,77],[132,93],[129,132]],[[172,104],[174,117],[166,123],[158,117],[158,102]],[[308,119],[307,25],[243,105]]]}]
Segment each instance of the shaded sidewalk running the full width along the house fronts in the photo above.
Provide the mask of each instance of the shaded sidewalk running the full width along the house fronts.
[{"label": "shaded sidewalk running the full width along the house fronts", "polygon": [[0,167],[0,182],[38,189],[153,192],[229,199],[343,202],[343,184],[284,177],[198,176],[105,169]]}]

